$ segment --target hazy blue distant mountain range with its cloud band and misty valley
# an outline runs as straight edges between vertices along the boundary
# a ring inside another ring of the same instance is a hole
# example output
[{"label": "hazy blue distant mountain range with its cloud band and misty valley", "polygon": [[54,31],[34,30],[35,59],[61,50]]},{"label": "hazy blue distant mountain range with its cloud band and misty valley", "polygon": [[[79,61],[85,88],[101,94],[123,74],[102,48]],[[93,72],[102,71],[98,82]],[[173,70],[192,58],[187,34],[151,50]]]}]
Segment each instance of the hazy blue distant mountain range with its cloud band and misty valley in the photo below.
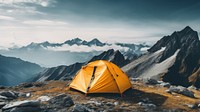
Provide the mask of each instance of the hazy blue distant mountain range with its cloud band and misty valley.
[{"label": "hazy blue distant mountain range with its cloud band and misty valley", "polygon": [[42,43],[32,42],[20,48],[0,50],[0,54],[21,58],[44,67],[55,67],[71,65],[76,62],[82,63],[109,49],[119,50],[126,59],[135,59],[143,54],[147,48],[149,46],[146,44],[110,44],[103,43],[96,38],[91,41],[75,38],[63,43],[50,43],[48,41]]}]

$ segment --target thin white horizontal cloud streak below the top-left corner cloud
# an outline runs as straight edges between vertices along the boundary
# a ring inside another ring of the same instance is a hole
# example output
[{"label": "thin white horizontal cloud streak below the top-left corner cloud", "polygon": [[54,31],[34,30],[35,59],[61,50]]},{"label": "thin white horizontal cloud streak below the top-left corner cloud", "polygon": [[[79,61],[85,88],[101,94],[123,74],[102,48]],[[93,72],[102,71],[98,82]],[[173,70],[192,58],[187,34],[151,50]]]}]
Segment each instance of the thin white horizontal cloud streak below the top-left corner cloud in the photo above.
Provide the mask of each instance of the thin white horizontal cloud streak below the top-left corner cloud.
[{"label": "thin white horizontal cloud streak below the top-left corner cloud", "polygon": [[62,21],[51,21],[51,20],[29,20],[24,21],[24,24],[28,25],[35,25],[35,26],[60,26],[60,25],[67,25],[66,22]]}]

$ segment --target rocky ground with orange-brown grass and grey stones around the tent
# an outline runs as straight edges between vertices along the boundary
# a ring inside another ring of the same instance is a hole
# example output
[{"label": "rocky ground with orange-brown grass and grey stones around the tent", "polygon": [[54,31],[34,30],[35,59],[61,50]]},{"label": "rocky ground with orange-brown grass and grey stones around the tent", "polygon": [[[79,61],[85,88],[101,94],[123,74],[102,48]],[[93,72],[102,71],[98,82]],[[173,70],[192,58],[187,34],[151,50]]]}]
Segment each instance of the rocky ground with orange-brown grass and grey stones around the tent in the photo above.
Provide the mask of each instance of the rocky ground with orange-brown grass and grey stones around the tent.
[{"label": "rocky ground with orange-brown grass and grey stones around the tent", "polygon": [[85,94],[68,81],[0,86],[0,112],[198,112],[200,91],[152,79],[131,79],[133,88],[119,94]]}]

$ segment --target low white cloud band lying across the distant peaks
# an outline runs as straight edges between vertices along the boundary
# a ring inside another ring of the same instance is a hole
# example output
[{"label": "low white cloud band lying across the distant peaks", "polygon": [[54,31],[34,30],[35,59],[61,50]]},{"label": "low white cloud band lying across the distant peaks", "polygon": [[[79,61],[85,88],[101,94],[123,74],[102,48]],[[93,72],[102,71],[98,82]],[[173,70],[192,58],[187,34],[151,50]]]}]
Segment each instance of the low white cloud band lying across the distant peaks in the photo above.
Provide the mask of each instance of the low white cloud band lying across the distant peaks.
[{"label": "low white cloud band lying across the distant peaks", "polygon": [[121,46],[117,46],[115,44],[112,44],[112,45],[105,45],[103,47],[101,46],[85,46],[85,45],[67,45],[67,44],[64,44],[60,47],[47,47],[45,48],[47,50],[53,50],[53,51],[71,51],[71,52],[91,52],[91,51],[105,51],[105,50],[108,50],[108,49],[114,49],[114,50],[120,50],[120,51],[128,51],[129,48],[128,47],[121,47]]}]

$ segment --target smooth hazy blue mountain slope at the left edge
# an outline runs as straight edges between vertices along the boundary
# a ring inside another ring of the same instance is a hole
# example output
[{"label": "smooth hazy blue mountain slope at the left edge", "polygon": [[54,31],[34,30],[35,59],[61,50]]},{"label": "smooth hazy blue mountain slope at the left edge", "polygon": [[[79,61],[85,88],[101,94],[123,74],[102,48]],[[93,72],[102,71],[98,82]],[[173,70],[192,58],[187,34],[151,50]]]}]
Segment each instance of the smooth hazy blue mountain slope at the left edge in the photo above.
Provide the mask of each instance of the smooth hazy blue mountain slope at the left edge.
[{"label": "smooth hazy blue mountain slope at the left edge", "polygon": [[42,70],[37,64],[0,55],[0,85],[17,85]]}]

